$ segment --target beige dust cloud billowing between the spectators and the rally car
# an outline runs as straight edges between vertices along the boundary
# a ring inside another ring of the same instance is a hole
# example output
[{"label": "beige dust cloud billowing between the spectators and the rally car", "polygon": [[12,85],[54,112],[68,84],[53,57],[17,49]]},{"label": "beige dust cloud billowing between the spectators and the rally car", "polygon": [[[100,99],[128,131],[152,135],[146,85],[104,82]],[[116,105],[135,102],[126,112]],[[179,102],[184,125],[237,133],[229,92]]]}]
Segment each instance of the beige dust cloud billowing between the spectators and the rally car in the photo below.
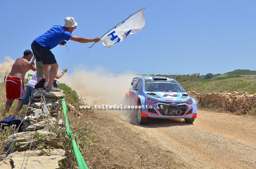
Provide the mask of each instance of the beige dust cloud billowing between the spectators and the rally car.
[{"label": "beige dust cloud billowing between the spectators and the rally car", "polygon": [[[82,69],[72,74],[67,73],[59,80],[75,90],[79,96],[86,99],[85,104],[93,107],[94,111],[108,112],[124,120],[134,122],[135,110],[124,108],[107,109],[106,106],[121,107],[127,105],[125,94],[131,88],[131,82],[135,76],[138,77],[138,75],[130,72],[113,75],[101,68],[97,68],[95,71]],[[98,108],[99,106],[101,108]]]}]

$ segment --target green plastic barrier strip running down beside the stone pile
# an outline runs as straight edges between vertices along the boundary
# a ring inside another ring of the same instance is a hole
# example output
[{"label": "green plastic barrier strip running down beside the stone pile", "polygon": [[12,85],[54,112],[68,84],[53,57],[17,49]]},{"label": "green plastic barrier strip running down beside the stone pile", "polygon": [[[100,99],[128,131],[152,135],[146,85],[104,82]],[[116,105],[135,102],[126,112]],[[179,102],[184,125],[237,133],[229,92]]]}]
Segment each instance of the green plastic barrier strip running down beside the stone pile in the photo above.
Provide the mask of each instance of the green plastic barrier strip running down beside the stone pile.
[{"label": "green plastic barrier strip running down beside the stone pile", "polygon": [[87,165],[86,165],[86,163],[83,159],[83,156],[80,153],[80,150],[77,147],[77,145],[76,145],[76,143],[73,139],[72,133],[69,130],[69,124],[68,124],[68,121],[67,121],[67,107],[66,107],[66,103],[65,103],[65,98],[63,97],[61,99],[61,101],[62,101],[62,107],[63,107],[63,114],[64,114],[64,117],[65,117],[66,132],[67,132],[67,135],[72,139],[72,145],[73,145],[76,161],[77,161],[78,166],[79,166],[80,169],[88,169],[88,167],[87,167]]}]

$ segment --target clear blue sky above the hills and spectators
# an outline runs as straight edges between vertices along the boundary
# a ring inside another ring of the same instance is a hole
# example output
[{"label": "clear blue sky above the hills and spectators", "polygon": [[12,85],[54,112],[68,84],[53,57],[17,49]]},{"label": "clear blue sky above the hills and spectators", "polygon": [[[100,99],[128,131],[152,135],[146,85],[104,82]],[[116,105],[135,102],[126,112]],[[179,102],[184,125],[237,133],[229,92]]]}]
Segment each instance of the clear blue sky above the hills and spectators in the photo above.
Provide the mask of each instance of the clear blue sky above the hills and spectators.
[{"label": "clear blue sky above the hills and spectators", "polygon": [[256,1],[0,1],[0,63],[31,49],[32,41],[72,16],[73,35],[101,37],[129,15],[144,10],[145,27],[111,48],[69,40],[54,53],[59,66],[112,74],[224,74],[256,70]]}]

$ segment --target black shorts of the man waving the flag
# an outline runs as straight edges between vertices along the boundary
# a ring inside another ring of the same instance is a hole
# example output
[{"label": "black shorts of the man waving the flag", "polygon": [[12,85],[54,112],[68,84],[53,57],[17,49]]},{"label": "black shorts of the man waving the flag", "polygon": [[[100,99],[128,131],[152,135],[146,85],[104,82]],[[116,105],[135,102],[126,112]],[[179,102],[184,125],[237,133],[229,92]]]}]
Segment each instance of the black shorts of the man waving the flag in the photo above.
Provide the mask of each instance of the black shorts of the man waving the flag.
[{"label": "black shorts of the man waving the flag", "polygon": [[54,54],[49,48],[41,46],[36,41],[31,44],[31,49],[35,55],[36,61],[42,61],[44,65],[51,65],[57,63]]}]

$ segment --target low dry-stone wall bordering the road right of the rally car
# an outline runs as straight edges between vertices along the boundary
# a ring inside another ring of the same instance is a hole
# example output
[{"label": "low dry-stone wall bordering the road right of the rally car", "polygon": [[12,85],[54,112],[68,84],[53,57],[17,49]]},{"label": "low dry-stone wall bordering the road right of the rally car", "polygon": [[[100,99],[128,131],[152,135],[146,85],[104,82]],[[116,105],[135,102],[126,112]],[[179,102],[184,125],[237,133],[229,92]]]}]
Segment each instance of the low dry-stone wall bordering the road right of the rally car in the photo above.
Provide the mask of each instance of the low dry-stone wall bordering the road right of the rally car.
[{"label": "low dry-stone wall bordering the road right of the rally car", "polygon": [[203,102],[207,104],[214,104],[219,107],[223,107],[228,111],[249,111],[252,108],[256,107],[256,93],[250,94],[249,92],[213,92],[201,94],[199,92],[188,92],[191,97],[197,100],[197,103]]}]

